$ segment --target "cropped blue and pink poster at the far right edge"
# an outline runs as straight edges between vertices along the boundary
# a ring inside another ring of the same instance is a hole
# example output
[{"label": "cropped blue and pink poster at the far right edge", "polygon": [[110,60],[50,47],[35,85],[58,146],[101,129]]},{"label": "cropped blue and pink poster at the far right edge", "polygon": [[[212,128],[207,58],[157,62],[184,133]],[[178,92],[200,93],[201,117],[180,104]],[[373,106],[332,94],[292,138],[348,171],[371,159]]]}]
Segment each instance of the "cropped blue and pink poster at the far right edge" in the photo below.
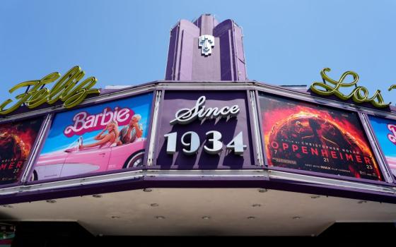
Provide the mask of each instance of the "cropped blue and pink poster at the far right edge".
[{"label": "cropped blue and pink poster at the far right edge", "polygon": [[396,176],[396,121],[375,116],[369,119],[392,174]]}]

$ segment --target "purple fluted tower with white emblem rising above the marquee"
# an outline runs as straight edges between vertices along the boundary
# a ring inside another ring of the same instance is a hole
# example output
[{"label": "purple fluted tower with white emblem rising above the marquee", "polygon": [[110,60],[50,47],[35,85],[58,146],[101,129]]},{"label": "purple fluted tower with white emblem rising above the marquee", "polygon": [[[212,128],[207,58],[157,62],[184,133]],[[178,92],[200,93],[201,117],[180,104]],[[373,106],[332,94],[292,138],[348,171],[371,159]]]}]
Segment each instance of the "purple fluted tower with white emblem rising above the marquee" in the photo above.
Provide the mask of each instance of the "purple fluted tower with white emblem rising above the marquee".
[{"label": "purple fluted tower with white emblem rising above the marquee", "polygon": [[205,14],[170,31],[165,80],[247,80],[242,29]]}]

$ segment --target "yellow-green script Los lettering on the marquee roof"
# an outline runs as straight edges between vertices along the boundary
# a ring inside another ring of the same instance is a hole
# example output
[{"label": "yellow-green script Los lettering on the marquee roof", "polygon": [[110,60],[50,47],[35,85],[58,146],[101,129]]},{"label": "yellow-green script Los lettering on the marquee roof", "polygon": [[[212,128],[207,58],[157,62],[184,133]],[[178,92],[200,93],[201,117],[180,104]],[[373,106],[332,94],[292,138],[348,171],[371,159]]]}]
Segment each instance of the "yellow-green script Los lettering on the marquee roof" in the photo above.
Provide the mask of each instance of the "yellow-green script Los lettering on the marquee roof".
[{"label": "yellow-green script Los lettering on the marquee roof", "polygon": [[[330,72],[330,71],[331,71],[330,68],[323,68],[322,71],[320,71],[320,76],[322,76],[323,83],[320,82],[312,83],[312,85],[310,85],[310,90],[317,93],[318,95],[323,95],[323,96],[335,95],[339,97],[339,99],[341,100],[352,99],[354,102],[359,104],[363,102],[369,102],[373,104],[374,107],[383,108],[383,107],[388,107],[390,105],[391,102],[389,102],[388,104],[384,102],[380,90],[375,91],[373,97],[368,97],[368,89],[358,86],[354,88],[354,90],[352,90],[352,92],[349,95],[344,95],[342,92],[339,92],[340,88],[349,88],[356,85],[359,81],[359,75],[353,71],[347,71],[342,74],[339,80],[333,80],[332,78],[326,75],[326,72]],[[351,83],[344,83],[344,80],[345,78],[347,78],[347,76],[352,76],[354,80],[352,80]],[[325,84],[325,82],[330,84]],[[391,88],[389,90],[391,90]]]}]

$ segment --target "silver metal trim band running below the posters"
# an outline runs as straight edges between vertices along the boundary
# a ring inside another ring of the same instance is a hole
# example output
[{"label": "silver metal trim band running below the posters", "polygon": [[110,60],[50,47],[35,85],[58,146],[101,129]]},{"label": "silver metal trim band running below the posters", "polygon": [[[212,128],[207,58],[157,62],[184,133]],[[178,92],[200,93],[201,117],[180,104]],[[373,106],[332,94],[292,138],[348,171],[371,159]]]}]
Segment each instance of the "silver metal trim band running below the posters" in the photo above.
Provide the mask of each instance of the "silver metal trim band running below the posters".
[{"label": "silver metal trim band running below the posters", "polygon": [[[304,174],[294,174],[284,171],[264,170],[264,169],[249,169],[249,170],[137,170],[126,171],[117,174],[105,174],[101,176],[93,176],[90,178],[71,179],[66,181],[54,181],[50,183],[38,183],[34,185],[21,185],[11,188],[0,189],[1,195],[21,194],[30,192],[53,192],[54,189],[70,188],[73,186],[86,186],[98,183],[111,183],[115,181],[127,181],[136,179],[260,179],[262,181],[297,181],[315,186],[325,185],[335,188],[356,189],[358,191],[371,191],[375,193],[386,193],[395,196],[396,187],[379,186],[374,184],[359,183],[353,181],[340,181],[337,179],[328,179],[315,176],[307,176]],[[22,195],[22,194],[21,194]]]}]

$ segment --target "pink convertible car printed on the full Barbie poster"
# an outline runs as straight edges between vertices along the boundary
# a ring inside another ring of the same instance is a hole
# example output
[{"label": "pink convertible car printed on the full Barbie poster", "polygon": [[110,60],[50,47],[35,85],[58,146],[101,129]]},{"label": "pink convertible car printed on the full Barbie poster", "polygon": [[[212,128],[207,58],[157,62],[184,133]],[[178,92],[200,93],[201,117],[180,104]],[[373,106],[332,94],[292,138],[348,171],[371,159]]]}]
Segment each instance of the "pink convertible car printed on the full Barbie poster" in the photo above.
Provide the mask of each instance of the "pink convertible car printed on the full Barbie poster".
[{"label": "pink convertible car printed on the full Barbie poster", "polygon": [[31,180],[54,179],[64,176],[111,171],[143,164],[146,138],[114,147],[79,149],[82,138],[64,151],[40,155]]}]

